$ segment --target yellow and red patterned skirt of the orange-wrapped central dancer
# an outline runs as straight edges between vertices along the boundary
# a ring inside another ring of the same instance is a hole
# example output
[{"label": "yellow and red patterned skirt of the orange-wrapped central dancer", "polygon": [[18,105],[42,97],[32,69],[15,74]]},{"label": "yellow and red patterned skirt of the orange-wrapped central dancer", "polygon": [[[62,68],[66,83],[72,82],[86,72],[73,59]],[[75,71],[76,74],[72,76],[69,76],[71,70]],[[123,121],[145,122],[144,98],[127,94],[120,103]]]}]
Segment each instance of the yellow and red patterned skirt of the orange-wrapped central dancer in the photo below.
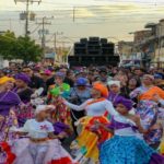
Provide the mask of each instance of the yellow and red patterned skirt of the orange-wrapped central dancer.
[{"label": "yellow and red patterned skirt of the orange-wrapped central dancer", "polygon": [[[80,119],[82,125],[82,131],[75,141],[71,144],[71,150],[75,156],[75,161],[86,163],[91,160],[93,163],[98,161],[98,144],[109,139],[112,134],[105,131],[103,128],[98,128],[96,131],[92,131],[91,128],[94,121],[97,120],[102,124],[109,124],[106,117],[83,117]],[[98,138],[99,136],[99,138]]]}]

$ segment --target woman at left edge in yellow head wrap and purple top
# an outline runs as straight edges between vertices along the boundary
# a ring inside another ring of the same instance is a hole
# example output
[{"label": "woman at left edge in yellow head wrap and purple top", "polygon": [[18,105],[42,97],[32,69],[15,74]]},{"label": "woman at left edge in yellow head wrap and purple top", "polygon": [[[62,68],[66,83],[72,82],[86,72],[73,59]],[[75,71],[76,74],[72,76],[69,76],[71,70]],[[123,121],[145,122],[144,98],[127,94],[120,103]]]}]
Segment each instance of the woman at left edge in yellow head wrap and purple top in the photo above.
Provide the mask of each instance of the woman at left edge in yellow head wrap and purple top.
[{"label": "woman at left edge in yellow head wrap and purple top", "polygon": [[[15,134],[10,132],[10,127],[17,126],[15,107],[20,105],[19,95],[11,90],[13,89],[14,79],[0,78],[0,142],[15,139]],[[4,162],[5,153],[0,153],[0,163]]]}]

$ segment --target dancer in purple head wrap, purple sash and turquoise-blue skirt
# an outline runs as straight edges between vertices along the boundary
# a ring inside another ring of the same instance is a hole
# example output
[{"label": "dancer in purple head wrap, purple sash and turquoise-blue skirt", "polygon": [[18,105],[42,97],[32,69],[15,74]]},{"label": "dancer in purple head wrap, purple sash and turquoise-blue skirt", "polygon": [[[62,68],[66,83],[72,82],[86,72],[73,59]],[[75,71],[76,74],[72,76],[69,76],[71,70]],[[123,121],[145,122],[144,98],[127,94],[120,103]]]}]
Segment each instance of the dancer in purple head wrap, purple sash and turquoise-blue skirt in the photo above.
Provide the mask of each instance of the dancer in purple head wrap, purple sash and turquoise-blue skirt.
[{"label": "dancer in purple head wrap, purple sash and turquoise-blue skirt", "polygon": [[114,130],[115,136],[101,145],[101,164],[164,163],[164,157],[138,136],[138,132],[148,131],[142,128],[140,117],[129,114],[131,108],[131,101],[125,98],[118,102],[116,109],[119,115],[113,117],[107,128],[108,131]]}]

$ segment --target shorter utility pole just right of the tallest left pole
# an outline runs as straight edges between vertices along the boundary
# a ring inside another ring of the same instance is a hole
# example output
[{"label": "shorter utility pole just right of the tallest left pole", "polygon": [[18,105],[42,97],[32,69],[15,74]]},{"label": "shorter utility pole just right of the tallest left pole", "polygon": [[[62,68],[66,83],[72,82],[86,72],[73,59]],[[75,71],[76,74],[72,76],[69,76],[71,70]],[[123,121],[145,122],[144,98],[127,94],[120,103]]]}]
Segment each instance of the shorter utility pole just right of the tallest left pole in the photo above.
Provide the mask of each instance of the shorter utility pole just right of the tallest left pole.
[{"label": "shorter utility pole just right of the tallest left pole", "polygon": [[52,17],[42,17],[42,21],[36,23],[36,24],[39,24],[42,25],[42,30],[39,30],[39,33],[42,35],[42,47],[44,49],[44,54],[45,54],[45,48],[46,48],[46,34],[48,34],[48,31],[45,30],[45,25],[50,25],[51,22],[48,22],[48,20],[51,20]]}]

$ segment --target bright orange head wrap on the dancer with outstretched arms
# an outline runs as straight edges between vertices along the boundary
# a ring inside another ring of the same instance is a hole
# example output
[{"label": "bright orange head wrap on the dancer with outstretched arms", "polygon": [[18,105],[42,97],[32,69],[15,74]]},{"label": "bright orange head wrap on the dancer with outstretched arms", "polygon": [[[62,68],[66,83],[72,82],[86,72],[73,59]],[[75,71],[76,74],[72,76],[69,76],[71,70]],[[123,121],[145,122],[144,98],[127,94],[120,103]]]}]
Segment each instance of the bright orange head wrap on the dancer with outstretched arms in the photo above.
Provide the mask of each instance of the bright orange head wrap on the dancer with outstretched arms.
[{"label": "bright orange head wrap on the dancer with outstretched arms", "polygon": [[103,83],[101,83],[101,82],[94,83],[93,89],[99,91],[104,97],[108,96],[108,90]]}]

